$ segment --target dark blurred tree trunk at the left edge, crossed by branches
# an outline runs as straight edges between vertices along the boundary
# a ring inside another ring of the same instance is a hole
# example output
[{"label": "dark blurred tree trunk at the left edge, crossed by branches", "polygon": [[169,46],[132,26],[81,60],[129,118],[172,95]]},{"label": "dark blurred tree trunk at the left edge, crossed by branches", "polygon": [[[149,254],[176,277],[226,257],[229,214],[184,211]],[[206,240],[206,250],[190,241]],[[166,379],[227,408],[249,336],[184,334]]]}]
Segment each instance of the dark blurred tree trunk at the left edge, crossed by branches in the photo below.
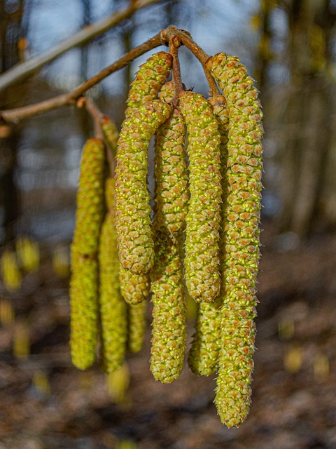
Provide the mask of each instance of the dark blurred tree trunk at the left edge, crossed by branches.
[{"label": "dark blurred tree trunk at the left edge, crossed by branches", "polygon": [[[13,67],[24,58],[27,45],[26,25],[24,21],[25,0],[0,1],[0,73]],[[0,109],[20,105],[25,93],[25,86],[7,88],[0,96]],[[10,241],[15,234],[15,222],[20,215],[18,188],[15,184],[15,169],[17,166],[18,145],[20,142],[20,127],[15,130],[8,128],[8,135],[0,136],[0,189],[3,208],[3,241]]]}]

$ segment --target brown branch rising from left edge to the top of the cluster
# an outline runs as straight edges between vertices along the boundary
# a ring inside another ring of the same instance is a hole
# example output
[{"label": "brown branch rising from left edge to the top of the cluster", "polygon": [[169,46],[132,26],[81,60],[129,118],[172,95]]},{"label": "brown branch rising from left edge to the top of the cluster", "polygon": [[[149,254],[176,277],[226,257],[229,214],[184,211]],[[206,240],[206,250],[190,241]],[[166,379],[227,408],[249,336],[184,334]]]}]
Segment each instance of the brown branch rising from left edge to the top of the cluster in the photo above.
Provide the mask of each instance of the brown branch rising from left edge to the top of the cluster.
[{"label": "brown branch rising from left edge to the top of the cluster", "polygon": [[141,45],[133,48],[118,61],[114,62],[112,65],[109,65],[109,67],[106,67],[102,70],[102,72],[99,72],[99,74],[92,76],[92,78],[88,79],[83,84],[80,84],[80,86],[74,91],[64,93],[55,98],[50,98],[50,100],[36,103],[35,105],[18,107],[17,109],[9,109],[8,111],[1,111],[0,118],[7,122],[12,121],[14,123],[18,123],[18,121],[22,119],[27,119],[27,117],[42,114],[43,112],[48,112],[52,109],[57,109],[58,107],[75,105],[78,98],[80,98],[92,86],[95,86],[97,83],[106,78],[106,76],[123,69],[123,67],[130,64],[130,62],[134,59],[160,45],[162,45],[161,36],[160,33],[158,33],[145,43],[141,43]]}]

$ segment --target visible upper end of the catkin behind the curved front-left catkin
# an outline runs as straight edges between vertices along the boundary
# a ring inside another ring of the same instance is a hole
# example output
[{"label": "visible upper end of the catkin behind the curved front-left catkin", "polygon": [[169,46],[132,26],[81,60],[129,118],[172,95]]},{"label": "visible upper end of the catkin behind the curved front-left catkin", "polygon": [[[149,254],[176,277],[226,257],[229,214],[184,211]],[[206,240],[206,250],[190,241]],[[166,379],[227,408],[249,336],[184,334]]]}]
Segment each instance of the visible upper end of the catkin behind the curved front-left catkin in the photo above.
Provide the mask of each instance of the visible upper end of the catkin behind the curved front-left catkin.
[{"label": "visible upper end of the catkin behind the curved front-left catkin", "polygon": [[126,118],[142,103],[154,100],[172,68],[172,56],[165,51],[154,53],[139,68],[127,98]]}]

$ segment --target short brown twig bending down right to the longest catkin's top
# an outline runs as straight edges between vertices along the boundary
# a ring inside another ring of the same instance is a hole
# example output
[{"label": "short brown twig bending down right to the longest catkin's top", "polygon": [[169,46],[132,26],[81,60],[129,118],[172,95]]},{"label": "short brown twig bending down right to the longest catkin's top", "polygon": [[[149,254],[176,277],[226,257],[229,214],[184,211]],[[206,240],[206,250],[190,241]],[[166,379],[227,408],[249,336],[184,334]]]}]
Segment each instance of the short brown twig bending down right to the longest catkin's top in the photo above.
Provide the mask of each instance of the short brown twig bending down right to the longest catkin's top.
[{"label": "short brown twig bending down right to the longest catkin's top", "polygon": [[184,46],[186,46],[192,53],[195,55],[195,57],[200,61],[202,64],[204,74],[207,77],[207,81],[209,84],[209,95],[219,95],[220,91],[218,89],[218,86],[216,84],[216,81],[214,80],[214,77],[209,72],[209,69],[207,69],[206,62],[209,59],[209,55],[205,53],[200,46],[197,45],[191,38],[190,34],[183,29],[178,29],[176,27],[168,27],[161,32],[162,41],[170,41],[172,37],[176,36],[179,39],[181,39],[181,42]]}]

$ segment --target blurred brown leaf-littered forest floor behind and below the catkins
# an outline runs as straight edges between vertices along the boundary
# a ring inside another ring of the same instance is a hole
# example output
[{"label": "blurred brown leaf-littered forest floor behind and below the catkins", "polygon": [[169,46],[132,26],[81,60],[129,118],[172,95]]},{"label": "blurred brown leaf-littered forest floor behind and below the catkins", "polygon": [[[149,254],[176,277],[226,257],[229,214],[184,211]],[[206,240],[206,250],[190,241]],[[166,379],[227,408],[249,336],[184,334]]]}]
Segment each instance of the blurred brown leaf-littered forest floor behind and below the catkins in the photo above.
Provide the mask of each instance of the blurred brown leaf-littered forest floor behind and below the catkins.
[{"label": "blurred brown leaf-littered forest floor behind and below the catkins", "polygon": [[46,259],[0,326],[0,449],[336,448],[336,236],[301,245],[265,229],[262,243],[253,402],[239,428],[216,415],[215,376],[185,366],[172,384],[153,380],[149,317],[122,400],[97,367],[73,368],[67,281]]}]

